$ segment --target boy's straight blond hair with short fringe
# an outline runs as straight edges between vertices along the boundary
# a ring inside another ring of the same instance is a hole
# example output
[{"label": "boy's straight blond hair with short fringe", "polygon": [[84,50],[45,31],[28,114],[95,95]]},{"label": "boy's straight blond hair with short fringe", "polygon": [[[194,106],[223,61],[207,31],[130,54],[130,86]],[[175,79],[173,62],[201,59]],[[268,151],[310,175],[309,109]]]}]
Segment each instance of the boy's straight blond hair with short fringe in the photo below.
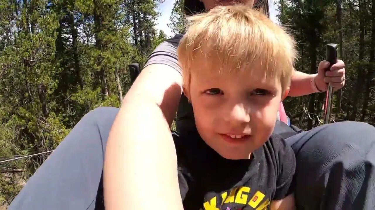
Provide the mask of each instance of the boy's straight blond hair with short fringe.
[{"label": "boy's straight blond hair with short fringe", "polygon": [[[279,76],[284,91],[297,57],[293,37],[261,11],[246,5],[217,6],[190,16],[177,53],[185,90],[189,90],[191,72],[205,71],[205,62],[220,73],[257,70]],[[251,68],[255,65],[261,69]]]}]

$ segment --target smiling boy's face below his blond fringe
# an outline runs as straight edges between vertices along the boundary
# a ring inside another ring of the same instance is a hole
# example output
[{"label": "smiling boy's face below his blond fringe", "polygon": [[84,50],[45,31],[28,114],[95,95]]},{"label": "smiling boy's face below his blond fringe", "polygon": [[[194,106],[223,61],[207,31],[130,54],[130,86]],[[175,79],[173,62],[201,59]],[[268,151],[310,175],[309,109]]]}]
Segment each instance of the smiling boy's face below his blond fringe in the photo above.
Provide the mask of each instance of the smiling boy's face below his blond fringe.
[{"label": "smiling boy's face below his blond fringe", "polygon": [[250,70],[252,74],[247,70],[223,74],[197,70],[191,74],[187,94],[196,127],[202,139],[224,158],[248,158],[275,127],[281,82],[258,69]]}]

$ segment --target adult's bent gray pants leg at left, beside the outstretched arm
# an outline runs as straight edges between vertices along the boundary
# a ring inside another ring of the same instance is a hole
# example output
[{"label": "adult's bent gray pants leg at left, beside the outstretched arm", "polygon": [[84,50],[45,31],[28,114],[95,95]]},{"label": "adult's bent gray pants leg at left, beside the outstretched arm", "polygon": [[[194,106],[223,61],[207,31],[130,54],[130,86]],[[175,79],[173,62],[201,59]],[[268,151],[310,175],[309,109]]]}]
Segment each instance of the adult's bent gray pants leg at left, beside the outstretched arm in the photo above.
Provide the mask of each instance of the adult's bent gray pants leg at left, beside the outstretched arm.
[{"label": "adult's bent gray pants leg at left, beside the outstretched arm", "polygon": [[104,209],[104,151],[117,112],[118,108],[104,107],[87,113],[28,180],[9,210]]}]

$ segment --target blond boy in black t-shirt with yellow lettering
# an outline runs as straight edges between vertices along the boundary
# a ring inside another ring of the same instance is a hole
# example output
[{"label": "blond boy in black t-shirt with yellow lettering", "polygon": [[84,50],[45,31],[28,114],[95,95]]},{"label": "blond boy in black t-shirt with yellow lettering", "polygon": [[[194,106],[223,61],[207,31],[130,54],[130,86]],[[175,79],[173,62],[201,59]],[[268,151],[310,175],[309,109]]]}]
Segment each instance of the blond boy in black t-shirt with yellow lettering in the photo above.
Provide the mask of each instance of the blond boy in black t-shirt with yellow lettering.
[{"label": "blond boy in black t-shirt with yellow lettering", "polygon": [[184,209],[294,209],[294,153],[272,135],[293,38],[248,6],[219,6],[189,18],[178,59],[199,133],[174,136]]}]

